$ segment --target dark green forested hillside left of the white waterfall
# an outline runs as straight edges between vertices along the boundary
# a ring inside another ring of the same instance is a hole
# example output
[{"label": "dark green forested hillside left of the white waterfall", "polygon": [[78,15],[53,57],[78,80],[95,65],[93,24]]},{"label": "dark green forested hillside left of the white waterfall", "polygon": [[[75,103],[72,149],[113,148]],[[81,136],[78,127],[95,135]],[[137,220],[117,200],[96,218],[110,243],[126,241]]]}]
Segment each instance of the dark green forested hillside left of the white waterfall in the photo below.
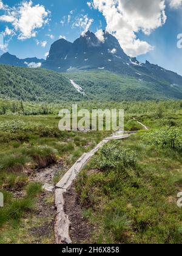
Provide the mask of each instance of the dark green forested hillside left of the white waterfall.
[{"label": "dark green forested hillside left of the white waterfall", "polygon": [[0,76],[2,99],[60,102],[84,98],[67,77],[47,69],[0,65]]}]

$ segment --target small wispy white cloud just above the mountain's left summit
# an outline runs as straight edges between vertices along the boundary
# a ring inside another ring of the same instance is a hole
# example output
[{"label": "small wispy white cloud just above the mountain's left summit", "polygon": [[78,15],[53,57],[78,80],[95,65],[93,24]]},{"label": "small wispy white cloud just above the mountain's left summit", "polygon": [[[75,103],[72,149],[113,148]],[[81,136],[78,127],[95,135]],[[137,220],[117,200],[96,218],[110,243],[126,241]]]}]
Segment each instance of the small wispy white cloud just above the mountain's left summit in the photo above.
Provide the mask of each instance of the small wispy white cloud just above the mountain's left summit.
[{"label": "small wispy white cloud just above the mountain's left summit", "polygon": [[92,23],[93,19],[90,19],[87,15],[81,15],[76,18],[72,27],[79,27],[80,29],[82,29],[83,32],[81,33],[81,35],[84,36],[89,30],[89,27],[92,25]]}]

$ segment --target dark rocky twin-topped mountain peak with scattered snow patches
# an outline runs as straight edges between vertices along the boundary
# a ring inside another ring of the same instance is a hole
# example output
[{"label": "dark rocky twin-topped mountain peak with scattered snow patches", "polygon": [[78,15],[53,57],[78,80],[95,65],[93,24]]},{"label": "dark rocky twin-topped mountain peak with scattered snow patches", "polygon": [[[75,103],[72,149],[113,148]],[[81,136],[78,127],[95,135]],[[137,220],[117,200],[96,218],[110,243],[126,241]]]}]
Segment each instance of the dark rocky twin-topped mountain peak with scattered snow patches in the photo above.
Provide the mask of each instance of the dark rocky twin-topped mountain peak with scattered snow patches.
[{"label": "dark rocky twin-topped mountain peak with scattered snow patches", "polygon": [[118,40],[103,31],[103,40],[88,31],[73,43],[60,39],[50,48],[42,68],[57,72],[107,70],[135,77],[146,82],[167,82],[172,87],[182,86],[182,77],[158,65],[140,63],[127,56]]}]

